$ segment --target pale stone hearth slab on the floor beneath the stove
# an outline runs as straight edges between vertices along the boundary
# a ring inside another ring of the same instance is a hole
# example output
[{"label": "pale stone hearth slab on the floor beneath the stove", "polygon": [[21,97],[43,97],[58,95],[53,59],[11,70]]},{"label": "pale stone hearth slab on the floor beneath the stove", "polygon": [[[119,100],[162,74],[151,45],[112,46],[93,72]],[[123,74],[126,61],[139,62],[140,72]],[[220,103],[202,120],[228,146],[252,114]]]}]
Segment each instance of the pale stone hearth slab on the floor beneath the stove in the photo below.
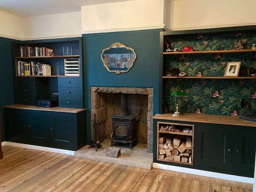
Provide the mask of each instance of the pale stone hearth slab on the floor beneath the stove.
[{"label": "pale stone hearth slab on the floor beneath the stove", "polygon": [[121,149],[121,155],[118,158],[107,157],[105,155],[106,148],[110,146],[111,140],[106,139],[102,144],[102,148],[95,151],[95,148],[83,147],[75,152],[74,157],[85,158],[89,160],[105,161],[109,163],[117,163],[121,165],[140,167],[151,169],[153,164],[153,154],[147,152],[147,144],[138,143],[133,150],[127,145],[113,146],[113,148]]}]

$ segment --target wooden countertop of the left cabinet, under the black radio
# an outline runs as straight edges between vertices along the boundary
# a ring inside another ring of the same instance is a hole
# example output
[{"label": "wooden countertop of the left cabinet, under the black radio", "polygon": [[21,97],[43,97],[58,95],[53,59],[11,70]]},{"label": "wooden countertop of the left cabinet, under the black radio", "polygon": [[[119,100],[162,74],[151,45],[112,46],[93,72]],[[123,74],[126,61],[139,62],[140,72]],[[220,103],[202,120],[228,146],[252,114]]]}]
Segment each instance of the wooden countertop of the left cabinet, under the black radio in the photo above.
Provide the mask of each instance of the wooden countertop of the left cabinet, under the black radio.
[{"label": "wooden countertop of the left cabinet, under the black radio", "polygon": [[12,104],[3,106],[3,108],[12,108],[12,109],[28,109],[28,110],[35,110],[35,111],[52,111],[52,112],[65,112],[65,113],[79,113],[82,111],[86,111],[86,109],[74,109],[74,108],[41,108],[34,105],[22,105],[22,104]]}]

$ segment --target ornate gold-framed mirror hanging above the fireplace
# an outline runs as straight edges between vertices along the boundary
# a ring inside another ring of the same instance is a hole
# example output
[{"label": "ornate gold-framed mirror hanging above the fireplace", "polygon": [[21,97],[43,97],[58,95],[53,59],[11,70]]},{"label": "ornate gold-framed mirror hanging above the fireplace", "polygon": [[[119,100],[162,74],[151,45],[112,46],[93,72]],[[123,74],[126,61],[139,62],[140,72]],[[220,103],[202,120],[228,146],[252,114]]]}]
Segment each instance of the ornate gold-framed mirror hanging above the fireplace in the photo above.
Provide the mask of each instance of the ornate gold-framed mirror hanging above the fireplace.
[{"label": "ornate gold-framed mirror hanging above the fireplace", "polygon": [[123,43],[113,43],[102,50],[101,60],[109,72],[120,74],[128,72],[133,67],[136,53]]}]

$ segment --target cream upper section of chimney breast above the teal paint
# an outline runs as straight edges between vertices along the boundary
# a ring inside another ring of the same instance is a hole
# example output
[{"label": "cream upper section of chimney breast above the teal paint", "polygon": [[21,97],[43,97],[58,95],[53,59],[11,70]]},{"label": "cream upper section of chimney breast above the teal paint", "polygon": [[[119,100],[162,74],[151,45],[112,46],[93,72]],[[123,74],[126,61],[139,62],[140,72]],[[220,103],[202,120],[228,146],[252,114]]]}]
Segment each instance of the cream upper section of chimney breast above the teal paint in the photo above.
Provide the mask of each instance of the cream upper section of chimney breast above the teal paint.
[{"label": "cream upper section of chimney breast above the teal paint", "polygon": [[111,32],[163,28],[163,0],[133,0],[82,6],[82,31]]}]

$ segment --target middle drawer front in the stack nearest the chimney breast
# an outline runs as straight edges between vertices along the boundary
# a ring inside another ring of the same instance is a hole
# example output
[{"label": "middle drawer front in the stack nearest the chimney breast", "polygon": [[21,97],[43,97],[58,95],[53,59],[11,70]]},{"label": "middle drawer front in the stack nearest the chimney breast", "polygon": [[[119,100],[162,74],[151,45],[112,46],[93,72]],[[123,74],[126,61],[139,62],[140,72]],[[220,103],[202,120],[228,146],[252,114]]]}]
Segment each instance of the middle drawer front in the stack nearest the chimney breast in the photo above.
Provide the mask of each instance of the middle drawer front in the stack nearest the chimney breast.
[{"label": "middle drawer front in the stack nearest the chimney breast", "polygon": [[59,87],[59,97],[82,98],[82,88]]}]

